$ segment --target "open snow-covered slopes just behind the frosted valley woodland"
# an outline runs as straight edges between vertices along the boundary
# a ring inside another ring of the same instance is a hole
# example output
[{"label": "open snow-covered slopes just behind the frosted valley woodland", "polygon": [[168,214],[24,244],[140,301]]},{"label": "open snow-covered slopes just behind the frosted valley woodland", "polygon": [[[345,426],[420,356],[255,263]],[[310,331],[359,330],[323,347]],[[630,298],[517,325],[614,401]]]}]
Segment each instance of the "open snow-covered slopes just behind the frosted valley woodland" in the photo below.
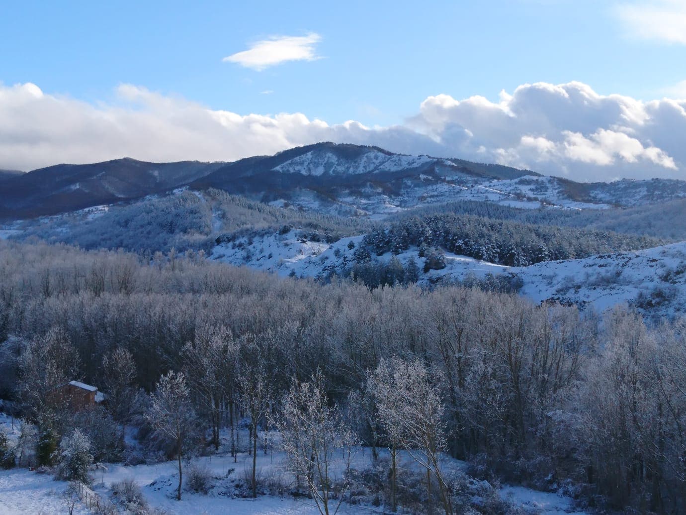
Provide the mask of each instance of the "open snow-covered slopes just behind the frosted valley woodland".
[{"label": "open snow-covered slopes just behind the frosted valley woodland", "polygon": [[[342,238],[329,245],[303,241],[297,233],[256,237],[252,238],[252,244],[246,238],[221,244],[213,249],[211,258],[279,275],[326,277],[333,271],[342,273],[353,264],[355,247],[364,238]],[[423,268],[424,259],[418,256],[417,249],[397,255],[403,264],[411,257]],[[381,262],[391,258],[391,253],[377,257]],[[445,258],[446,267],[421,273],[419,284],[461,282],[466,277],[482,278],[486,274],[514,274],[523,281],[521,295],[536,303],[554,299],[591,305],[598,310],[627,303],[656,317],[686,312],[686,242],[522,267],[502,266],[451,253],[446,253]]]}]

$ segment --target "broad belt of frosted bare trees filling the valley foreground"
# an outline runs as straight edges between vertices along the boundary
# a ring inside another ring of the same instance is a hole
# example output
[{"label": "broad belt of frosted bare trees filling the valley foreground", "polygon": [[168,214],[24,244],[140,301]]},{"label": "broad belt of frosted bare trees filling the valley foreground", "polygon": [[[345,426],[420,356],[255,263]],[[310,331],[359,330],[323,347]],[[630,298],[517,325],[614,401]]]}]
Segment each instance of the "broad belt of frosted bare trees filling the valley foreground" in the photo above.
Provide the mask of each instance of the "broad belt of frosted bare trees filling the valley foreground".
[{"label": "broad belt of frosted bare trees filling the valley foreground", "polygon": [[[78,379],[111,393],[108,416],[155,442],[156,420],[135,418],[132,392],[158,392],[150,411],[179,372],[209,444],[240,416],[257,438],[272,416],[292,436],[299,417],[323,413],[314,436],[349,430],[346,442],[423,456],[427,495],[447,513],[459,511],[459,485],[442,452],[477,476],[564,485],[602,509],[683,512],[685,329],[480,289],[321,286],[196,253],[148,263],[0,244],[0,396],[39,427],[46,392]],[[164,441],[151,447],[176,455],[180,444]],[[383,490],[384,502],[401,503],[398,491]]]}]

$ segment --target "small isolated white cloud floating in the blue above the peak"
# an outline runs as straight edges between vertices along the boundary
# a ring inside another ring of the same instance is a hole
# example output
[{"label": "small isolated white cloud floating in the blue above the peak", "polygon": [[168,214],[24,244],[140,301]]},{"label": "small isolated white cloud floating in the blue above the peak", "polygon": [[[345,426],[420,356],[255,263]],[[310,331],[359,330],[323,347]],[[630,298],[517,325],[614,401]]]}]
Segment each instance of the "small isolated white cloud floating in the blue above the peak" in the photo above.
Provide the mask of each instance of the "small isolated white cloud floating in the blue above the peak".
[{"label": "small isolated white cloud floating in the blue above the peak", "polygon": [[281,62],[316,60],[315,45],[322,36],[311,32],[307,36],[273,36],[249,45],[247,50],[222,59],[255,70],[263,70]]}]

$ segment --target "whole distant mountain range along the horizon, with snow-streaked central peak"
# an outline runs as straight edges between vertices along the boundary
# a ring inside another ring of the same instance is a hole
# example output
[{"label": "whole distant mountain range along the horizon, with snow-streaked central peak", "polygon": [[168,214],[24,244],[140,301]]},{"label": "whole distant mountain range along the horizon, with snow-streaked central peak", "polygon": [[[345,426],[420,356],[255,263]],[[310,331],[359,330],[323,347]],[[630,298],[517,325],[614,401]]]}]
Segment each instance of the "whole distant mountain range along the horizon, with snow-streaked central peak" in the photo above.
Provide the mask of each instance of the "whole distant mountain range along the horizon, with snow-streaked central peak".
[{"label": "whole distant mountain range along the horizon, with snow-streaked central peak", "polygon": [[223,190],[278,207],[384,218],[453,201],[539,209],[636,207],[686,198],[686,182],[666,179],[575,183],[504,165],[375,146],[329,142],[233,163],[148,163],[116,159],[0,172],[0,220],[134,201],[180,187]]}]

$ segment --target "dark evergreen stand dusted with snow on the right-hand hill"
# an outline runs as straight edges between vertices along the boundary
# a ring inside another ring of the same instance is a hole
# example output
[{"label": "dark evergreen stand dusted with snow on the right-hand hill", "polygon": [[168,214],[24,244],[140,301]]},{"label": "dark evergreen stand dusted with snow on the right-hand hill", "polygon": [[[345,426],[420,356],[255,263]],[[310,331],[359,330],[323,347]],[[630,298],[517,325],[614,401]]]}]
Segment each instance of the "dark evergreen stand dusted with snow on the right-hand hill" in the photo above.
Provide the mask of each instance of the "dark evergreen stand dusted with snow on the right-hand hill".
[{"label": "dark evergreen stand dusted with snow on the right-hand hill", "polygon": [[438,247],[478,260],[506,266],[587,258],[589,255],[657,247],[662,240],[608,231],[532,225],[473,215],[436,214],[410,217],[377,229],[364,238],[365,246],[381,255],[410,247]]}]

